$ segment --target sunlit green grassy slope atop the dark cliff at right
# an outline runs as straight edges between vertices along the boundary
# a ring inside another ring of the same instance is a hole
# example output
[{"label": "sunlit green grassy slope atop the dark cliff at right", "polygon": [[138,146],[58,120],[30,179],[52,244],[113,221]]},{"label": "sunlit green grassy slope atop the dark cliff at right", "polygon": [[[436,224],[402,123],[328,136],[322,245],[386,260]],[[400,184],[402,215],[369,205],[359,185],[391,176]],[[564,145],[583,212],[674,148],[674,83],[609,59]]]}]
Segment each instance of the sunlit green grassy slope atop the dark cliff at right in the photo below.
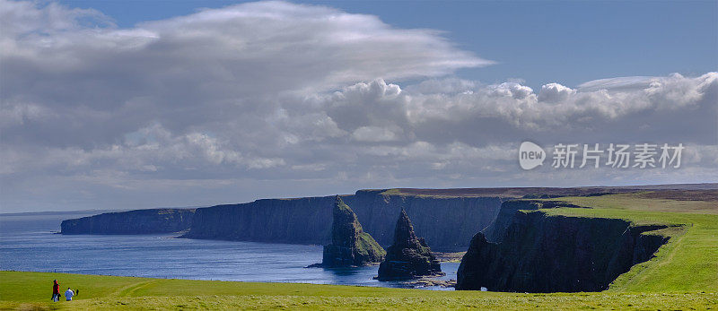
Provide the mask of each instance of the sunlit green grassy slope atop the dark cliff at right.
[{"label": "sunlit green grassy slope atop the dark cliff at right", "polygon": [[[716,193],[716,191],[713,191]],[[676,195],[675,197],[671,195]],[[718,291],[718,203],[713,193],[701,196],[686,192],[641,192],[601,196],[562,197],[582,208],[538,210],[547,215],[616,218],[635,225],[662,224],[673,227],[644,234],[670,237],[652,260],[636,264],[619,276],[610,291]],[[693,198],[691,200],[688,200]]]}]

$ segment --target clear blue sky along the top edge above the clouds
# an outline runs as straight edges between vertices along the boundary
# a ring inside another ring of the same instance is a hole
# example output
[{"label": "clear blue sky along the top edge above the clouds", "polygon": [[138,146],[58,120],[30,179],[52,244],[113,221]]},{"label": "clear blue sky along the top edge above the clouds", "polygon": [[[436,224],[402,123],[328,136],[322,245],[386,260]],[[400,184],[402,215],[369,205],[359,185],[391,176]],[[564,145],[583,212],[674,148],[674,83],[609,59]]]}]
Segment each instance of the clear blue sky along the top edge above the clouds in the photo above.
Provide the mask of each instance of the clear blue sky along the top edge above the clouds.
[{"label": "clear blue sky along the top edge above the clouds", "polygon": [[[61,1],[94,8],[119,27],[237,1]],[[718,69],[718,1],[294,1],[379,16],[398,28],[445,31],[496,65],[457,72],[486,83],[522,79],[575,87],[617,76],[696,75]]]}]

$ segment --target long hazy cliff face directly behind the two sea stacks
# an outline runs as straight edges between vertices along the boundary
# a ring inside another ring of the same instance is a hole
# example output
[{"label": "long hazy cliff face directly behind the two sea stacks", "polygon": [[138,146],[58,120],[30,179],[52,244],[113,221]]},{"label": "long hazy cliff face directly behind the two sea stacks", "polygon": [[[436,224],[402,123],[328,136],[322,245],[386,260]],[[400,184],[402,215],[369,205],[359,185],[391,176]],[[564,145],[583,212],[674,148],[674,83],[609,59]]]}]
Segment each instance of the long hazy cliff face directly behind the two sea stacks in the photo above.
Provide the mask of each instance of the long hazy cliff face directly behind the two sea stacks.
[{"label": "long hazy cliff face directly behind the two sea stacks", "polygon": [[[426,197],[361,190],[342,195],[363,230],[389,246],[402,208],[414,220],[416,234],[439,251],[466,249],[471,237],[496,217],[498,197]],[[185,238],[327,245],[331,238],[334,196],[267,199],[197,209]]]}]

